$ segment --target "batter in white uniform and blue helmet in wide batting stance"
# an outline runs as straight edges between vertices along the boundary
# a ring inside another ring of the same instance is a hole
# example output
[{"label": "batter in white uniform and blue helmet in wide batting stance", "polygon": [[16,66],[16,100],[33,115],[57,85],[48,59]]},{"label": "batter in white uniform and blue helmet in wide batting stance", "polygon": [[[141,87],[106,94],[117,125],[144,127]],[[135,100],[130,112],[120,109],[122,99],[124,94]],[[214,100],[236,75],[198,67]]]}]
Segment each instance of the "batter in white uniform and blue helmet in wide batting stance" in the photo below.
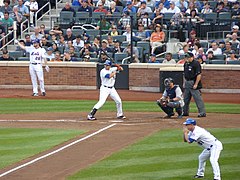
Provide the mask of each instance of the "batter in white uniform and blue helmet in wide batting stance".
[{"label": "batter in white uniform and blue helmet in wide batting stance", "polygon": [[104,63],[104,68],[100,71],[100,78],[101,78],[101,87],[100,87],[100,95],[99,101],[93,107],[92,111],[88,114],[88,120],[96,120],[94,115],[96,114],[97,110],[100,109],[107,100],[107,97],[110,97],[115,101],[117,107],[117,118],[118,119],[126,119],[123,115],[122,110],[122,100],[118,95],[116,89],[114,88],[115,80],[116,80],[116,73],[117,71],[123,71],[121,66],[111,67],[112,62],[106,60]]}]

